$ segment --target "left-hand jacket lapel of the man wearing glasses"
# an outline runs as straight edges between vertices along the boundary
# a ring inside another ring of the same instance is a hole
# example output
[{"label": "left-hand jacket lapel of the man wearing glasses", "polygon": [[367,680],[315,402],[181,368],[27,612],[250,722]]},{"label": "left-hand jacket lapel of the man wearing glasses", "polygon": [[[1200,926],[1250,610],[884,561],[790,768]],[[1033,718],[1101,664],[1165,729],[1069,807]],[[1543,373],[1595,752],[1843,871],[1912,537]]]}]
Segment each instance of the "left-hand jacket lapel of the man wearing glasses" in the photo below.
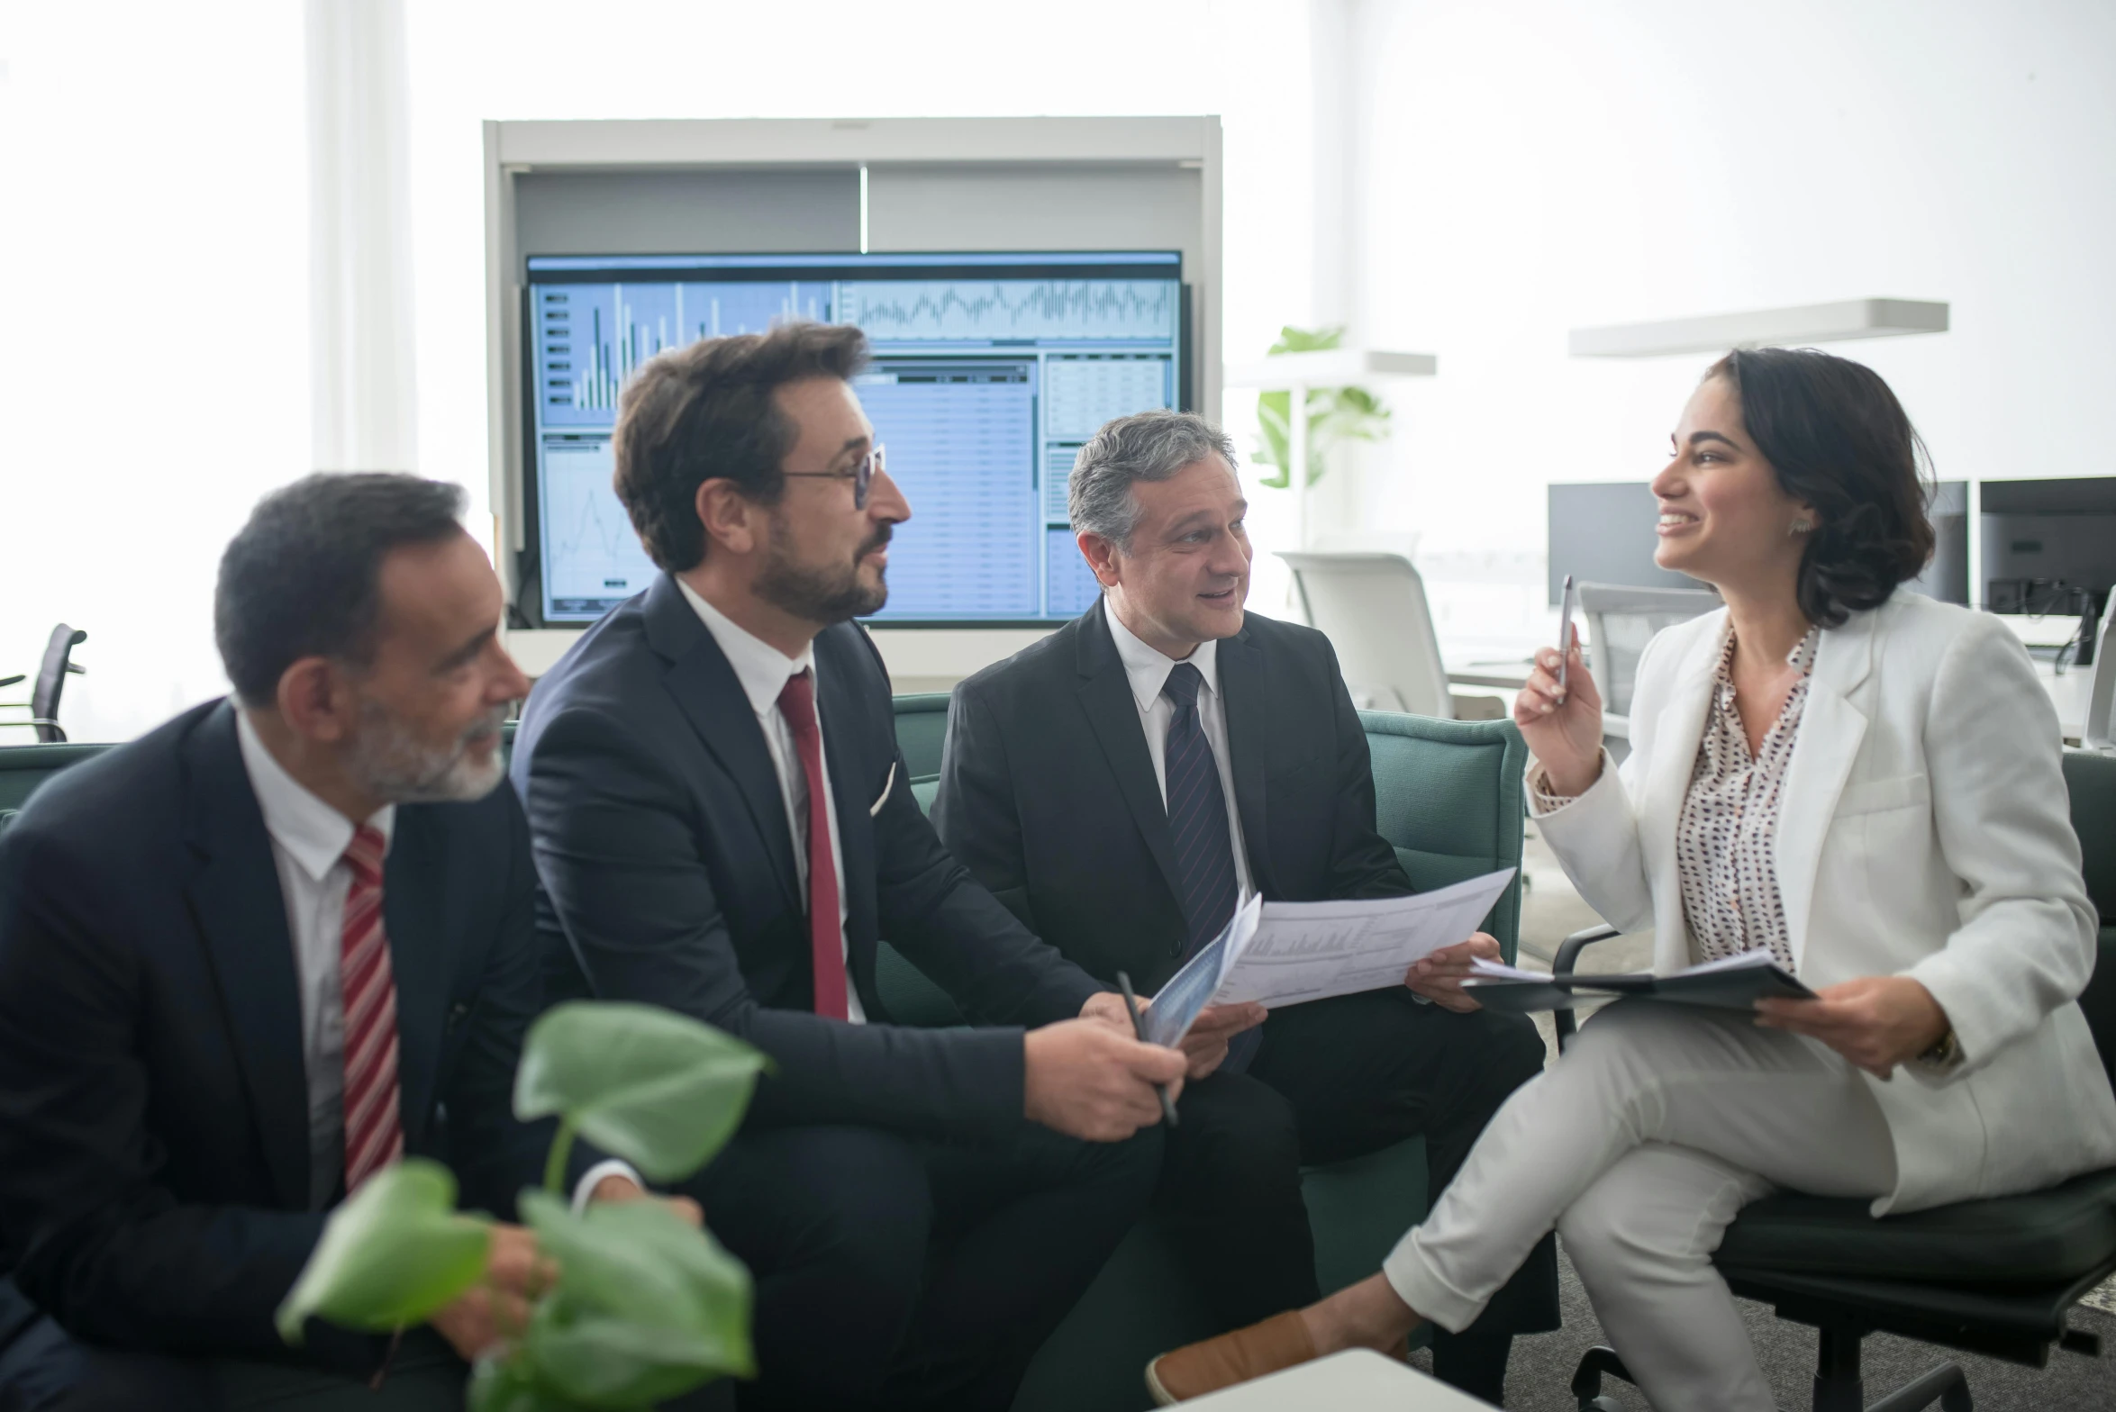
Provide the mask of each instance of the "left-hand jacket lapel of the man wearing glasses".
[{"label": "left-hand jacket lapel of the man wearing glasses", "polygon": [[749,818],[764,837],[772,871],[787,903],[804,909],[800,873],[794,871],[794,835],[787,829],[785,795],[772,772],[770,746],[758,712],[743,695],[743,683],[719,651],[698,613],[683,600],[683,590],[667,573],[647,590],[647,645],[669,659],[669,693],[675,698],[698,740],[728,772],[749,807]]}]

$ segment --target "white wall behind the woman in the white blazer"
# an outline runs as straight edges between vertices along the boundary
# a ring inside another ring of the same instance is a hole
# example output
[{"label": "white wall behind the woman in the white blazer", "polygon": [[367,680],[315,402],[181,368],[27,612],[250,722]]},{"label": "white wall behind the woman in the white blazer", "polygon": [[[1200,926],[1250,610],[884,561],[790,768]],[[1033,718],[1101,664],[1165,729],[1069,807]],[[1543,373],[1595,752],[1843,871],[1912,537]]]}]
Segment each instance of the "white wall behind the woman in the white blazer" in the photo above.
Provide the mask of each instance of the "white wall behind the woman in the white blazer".
[{"label": "white wall behind the woman in the white blazer", "polygon": [[1947,478],[2110,476],[2116,6],[1416,0],[1354,13],[1358,319],[1433,349],[1348,522],[1433,573],[1540,554],[1545,484],[1646,478],[1710,357],[1566,330],[1854,296],[1953,330],[1830,345]]}]

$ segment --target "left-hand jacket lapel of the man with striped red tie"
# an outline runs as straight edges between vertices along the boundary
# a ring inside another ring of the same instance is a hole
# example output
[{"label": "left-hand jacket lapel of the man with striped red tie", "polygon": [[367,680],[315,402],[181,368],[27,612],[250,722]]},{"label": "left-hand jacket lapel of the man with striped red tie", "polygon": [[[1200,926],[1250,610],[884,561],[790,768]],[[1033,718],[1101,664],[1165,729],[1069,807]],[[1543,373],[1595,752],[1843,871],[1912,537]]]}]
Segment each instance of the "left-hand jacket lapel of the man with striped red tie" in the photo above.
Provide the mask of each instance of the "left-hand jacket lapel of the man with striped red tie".
[{"label": "left-hand jacket lapel of the man with striped red tie", "polygon": [[300,1044],[300,987],[286,898],[264,814],[250,788],[235,708],[201,725],[186,761],[186,841],[199,858],[184,888],[235,1040],[258,1148],[279,1205],[309,1207],[309,1082]]}]

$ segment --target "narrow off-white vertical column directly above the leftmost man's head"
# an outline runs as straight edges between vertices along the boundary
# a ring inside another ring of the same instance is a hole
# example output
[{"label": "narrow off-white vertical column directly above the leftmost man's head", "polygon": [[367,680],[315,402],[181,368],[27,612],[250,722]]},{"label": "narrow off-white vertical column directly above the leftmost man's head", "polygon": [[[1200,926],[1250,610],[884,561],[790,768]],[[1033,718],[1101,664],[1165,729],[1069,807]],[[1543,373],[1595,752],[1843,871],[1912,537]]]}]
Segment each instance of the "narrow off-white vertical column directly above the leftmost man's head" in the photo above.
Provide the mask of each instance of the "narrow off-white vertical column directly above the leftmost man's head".
[{"label": "narrow off-white vertical column directly above the leftmost man's head", "polygon": [[307,0],[309,419],[320,471],[419,465],[402,0]]}]

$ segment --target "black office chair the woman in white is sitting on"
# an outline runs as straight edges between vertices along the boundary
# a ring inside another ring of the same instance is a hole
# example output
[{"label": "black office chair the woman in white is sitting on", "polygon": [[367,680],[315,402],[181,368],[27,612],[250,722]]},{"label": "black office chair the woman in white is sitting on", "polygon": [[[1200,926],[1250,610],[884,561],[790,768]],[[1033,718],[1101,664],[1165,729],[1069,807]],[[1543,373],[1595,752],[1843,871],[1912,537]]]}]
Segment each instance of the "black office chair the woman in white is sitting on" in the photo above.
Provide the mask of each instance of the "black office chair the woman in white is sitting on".
[{"label": "black office chair the woman in white is sitting on", "polygon": [[[2116,917],[2116,757],[2067,750],[2065,782],[2086,892],[2108,922]],[[1593,928],[1568,936],[1551,970],[1568,974],[1583,949],[1615,934]],[[2099,947],[2080,1008],[2116,1082],[2116,926],[2101,928]],[[1564,1046],[1570,1012],[1557,1012],[1557,1032]],[[1864,1401],[1860,1340],[1898,1334],[2029,1368],[2044,1368],[2053,1349],[2097,1357],[2101,1340],[2067,1327],[2065,1317],[2116,1275],[2116,1169],[2042,1192],[1879,1220],[1864,1201],[1784,1192],[1744,1207],[1712,1264],[1737,1296],[1820,1330],[1816,1412],[1915,1412],[1934,1401],[1968,1412],[1959,1363]],[[1604,1376],[1629,1380],[1615,1351],[1589,1349],[1572,1376],[1583,1412],[1615,1412],[1600,1395]]]}]

